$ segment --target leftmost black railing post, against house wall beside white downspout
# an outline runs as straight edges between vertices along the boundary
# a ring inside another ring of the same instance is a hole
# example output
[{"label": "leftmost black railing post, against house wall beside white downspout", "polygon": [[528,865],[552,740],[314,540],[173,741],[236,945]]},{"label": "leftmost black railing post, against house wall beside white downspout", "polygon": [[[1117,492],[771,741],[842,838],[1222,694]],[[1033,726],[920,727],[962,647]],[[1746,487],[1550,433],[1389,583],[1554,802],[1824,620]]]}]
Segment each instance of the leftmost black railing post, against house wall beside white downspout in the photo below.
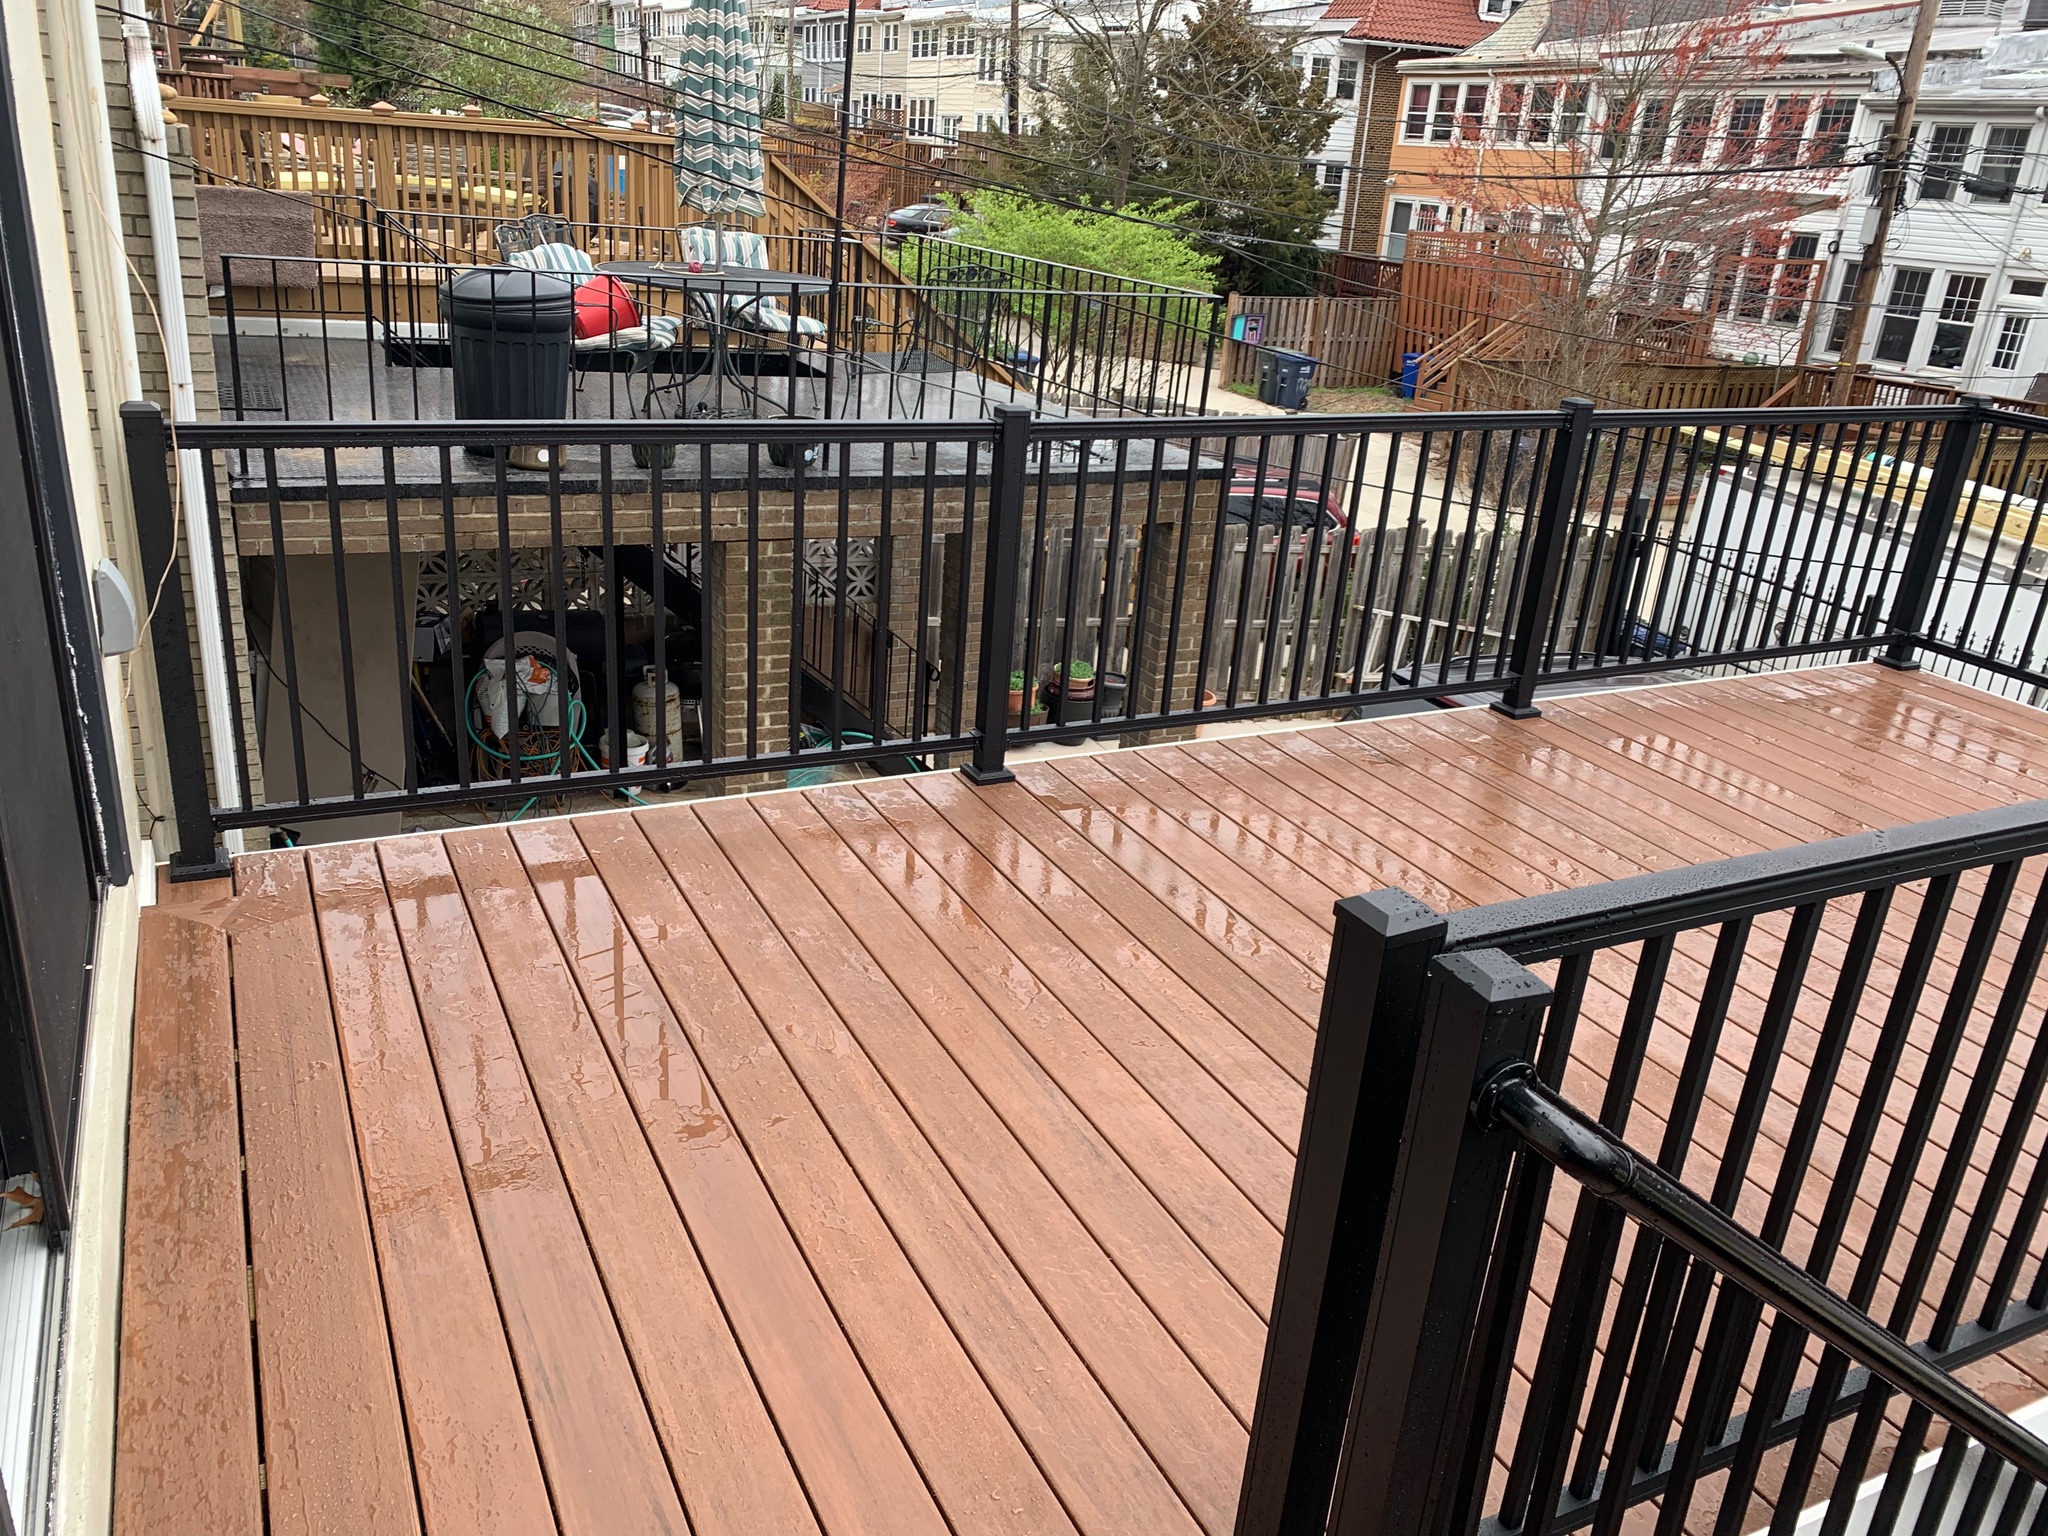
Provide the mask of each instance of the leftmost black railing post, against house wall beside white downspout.
[{"label": "leftmost black railing post, against house wall beside white downspout", "polygon": [[[121,408],[121,434],[127,440],[129,485],[135,500],[135,545],[147,594],[154,598],[150,647],[156,657],[164,756],[178,823],[178,852],[170,856],[170,879],[213,879],[227,874],[227,856],[213,834],[213,799],[207,786],[205,735],[199,729],[199,688],[193,682],[184,573],[178,569],[178,510],[170,496],[170,436],[164,432],[164,412],[131,399]],[[209,555],[211,551],[193,551],[193,559]],[[231,764],[221,764],[221,772],[231,772]]]}]

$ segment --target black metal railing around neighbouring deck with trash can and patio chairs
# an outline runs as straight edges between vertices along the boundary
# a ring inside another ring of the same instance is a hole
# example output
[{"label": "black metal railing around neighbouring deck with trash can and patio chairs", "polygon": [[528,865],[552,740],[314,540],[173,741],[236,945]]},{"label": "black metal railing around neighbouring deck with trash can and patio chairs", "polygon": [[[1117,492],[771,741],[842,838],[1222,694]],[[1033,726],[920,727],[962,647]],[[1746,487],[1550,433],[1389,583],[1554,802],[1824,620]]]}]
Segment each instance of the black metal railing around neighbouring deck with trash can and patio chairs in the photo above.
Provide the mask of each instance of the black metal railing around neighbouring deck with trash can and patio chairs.
[{"label": "black metal railing around neighbouring deck with trash can and patio chairs", "polygon": [[[997,406],[1057,414],[1180,416],[1206,408],[1217,348],[1212,295],[1102,283],[1061,270],[954,264],[920,285],[877,279],[829,244],[776,238],[786,279],[735,287],[666,252],[668,236],[602,242],[633,319],[573,350],[575,418],[846,416],[952,420]],[[371,252],[387,256],[373,258]],[[653,250],[655,254],[631,254]],[[360,256],[221,256],[215,360],[221,414],[258,422],[453,420],[457,377],[440,293],[475,258],[387,229]],[[784,264],[786,262],[786,264]],[[864,274],[866,272],[866,274]],[[1036,281],[1034,279],[1042,279]]]}]

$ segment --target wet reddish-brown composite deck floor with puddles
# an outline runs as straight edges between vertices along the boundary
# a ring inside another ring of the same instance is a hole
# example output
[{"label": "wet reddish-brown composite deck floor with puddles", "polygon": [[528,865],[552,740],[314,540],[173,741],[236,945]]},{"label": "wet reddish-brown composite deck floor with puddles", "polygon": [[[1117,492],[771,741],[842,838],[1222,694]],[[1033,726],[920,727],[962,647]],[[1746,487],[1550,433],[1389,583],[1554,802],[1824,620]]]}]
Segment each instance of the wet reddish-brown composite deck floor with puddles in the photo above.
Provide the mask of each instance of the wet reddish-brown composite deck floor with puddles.
[{"label": "wet reddish-brown composite deck floor with puddles", "polygon": [[117,1532],[1225,1536],[1337,897],[2036,799],[2048,715],[1845,668],[1018,778],[168,887]]}]

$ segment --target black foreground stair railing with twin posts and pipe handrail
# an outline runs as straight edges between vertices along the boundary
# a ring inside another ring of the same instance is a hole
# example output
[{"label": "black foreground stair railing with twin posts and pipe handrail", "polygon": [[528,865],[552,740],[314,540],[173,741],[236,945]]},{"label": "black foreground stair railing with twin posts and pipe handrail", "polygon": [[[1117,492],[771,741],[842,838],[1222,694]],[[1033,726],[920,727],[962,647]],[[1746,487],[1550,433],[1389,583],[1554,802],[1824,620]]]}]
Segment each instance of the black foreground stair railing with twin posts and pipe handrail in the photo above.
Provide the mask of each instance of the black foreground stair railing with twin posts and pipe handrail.
[{"label": "black foreground stair railing with twin posts and pipe handrail", "polygon": [[1339,903],[1239,1536],[2019,1530],[2048,1446],[1954,1372],[2048,1327],[2042,854]]}]

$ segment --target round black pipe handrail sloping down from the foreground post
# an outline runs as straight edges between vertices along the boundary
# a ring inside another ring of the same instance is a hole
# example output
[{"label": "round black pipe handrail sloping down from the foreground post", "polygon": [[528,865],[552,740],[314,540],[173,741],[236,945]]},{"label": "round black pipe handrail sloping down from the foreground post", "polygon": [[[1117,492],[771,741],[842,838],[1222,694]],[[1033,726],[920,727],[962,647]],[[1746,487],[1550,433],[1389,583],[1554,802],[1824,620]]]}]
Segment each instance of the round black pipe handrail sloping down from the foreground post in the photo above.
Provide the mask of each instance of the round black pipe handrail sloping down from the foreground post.
[{"label": "round black pipe handrail sloping down from the foreground post", "polygon": [[1530,1063],[1518,1061],[1495,1071],[1473,1098],[1473,1116],[1483,1126],[1513,1130],[1530,1151],[1602,1200],[1737,1280],[1921,1407],[1968,1430],[2028,1477],[2048,1483],[2048,1444],[1929,1364],[1905,1339],[1878,1327],[1776,1247],[1737,1227],[1575,1104],[1552,1094]]}]

